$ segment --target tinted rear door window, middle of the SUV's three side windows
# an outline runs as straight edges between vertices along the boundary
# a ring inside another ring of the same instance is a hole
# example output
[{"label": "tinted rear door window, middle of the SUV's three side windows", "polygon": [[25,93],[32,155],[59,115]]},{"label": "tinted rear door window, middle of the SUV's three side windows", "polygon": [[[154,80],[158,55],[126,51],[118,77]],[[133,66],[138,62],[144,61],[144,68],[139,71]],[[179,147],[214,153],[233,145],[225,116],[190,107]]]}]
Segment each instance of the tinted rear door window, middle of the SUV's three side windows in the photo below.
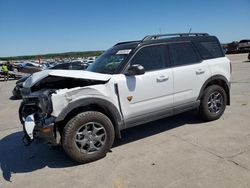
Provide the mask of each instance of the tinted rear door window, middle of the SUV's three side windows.
[{"label": "tinted rear door window, middle of the SUV's three side windows", "polygon": [[199,62],[199,58],[191,43],[170,44],[169,49],[175,66]]}]

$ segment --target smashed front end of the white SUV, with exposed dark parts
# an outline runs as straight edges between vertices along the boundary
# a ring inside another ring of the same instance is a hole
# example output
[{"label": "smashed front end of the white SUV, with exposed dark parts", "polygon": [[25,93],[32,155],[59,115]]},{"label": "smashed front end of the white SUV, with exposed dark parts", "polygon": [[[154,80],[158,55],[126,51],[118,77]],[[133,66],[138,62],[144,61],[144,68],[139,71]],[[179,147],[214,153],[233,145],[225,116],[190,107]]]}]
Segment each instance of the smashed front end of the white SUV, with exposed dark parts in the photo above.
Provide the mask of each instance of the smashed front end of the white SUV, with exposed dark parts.
[{"label": "smashed front end of the white SUV, with exposed dark parts", "polygon": [[23,142],[29,145],[33,140],[47,144],[60,144],[60,134],[55,126],[55,117],[50,116],[50,96],[48,92],[25,98],[19,109],[23,125]]}]

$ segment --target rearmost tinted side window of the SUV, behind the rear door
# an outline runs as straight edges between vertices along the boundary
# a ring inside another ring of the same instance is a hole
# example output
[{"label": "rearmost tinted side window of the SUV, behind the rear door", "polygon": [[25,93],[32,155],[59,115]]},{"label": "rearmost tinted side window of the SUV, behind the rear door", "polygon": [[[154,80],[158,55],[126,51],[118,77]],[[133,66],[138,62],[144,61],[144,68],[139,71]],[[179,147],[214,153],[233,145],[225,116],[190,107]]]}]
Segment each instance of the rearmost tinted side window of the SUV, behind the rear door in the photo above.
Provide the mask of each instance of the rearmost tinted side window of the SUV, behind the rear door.
[{"label": "rearmost tinted side window of the SUV, behind the rear door", "polygon": [[202,59],[224,57],[221,45],[217,41],[196,42],[195,44]]}]

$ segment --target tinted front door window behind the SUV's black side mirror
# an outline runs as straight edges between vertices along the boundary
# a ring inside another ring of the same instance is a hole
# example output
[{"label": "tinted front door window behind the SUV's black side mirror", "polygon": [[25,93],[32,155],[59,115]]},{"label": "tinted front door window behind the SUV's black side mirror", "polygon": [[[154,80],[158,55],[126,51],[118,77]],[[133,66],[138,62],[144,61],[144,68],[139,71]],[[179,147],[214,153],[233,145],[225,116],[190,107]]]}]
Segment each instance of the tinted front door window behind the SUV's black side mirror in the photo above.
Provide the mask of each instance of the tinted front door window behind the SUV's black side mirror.
[{"label": "tinted front door window behind the SUV's black side mirror", "polygon": [[154,45],[140,49],[130,62],[130,65],[140,64],[145,71],[163,69],[165,64],[166,46]]}]

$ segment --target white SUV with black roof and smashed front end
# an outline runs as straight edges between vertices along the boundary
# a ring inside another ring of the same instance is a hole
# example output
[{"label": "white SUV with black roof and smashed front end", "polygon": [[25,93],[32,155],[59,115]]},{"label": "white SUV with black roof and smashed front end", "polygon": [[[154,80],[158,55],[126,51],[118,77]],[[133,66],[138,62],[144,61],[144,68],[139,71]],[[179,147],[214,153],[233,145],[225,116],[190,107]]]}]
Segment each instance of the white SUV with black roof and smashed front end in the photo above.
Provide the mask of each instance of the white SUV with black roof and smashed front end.
[{"label": "white SUV with black roof and smashed front end", "polygon": [[230,61],[215,36],[180,33],[118,43],[86,71],[46,70],[23,84],[26,144],[62,144],[78,162],[97,160],[120,131],[198,109],[216,120],[230,104]]}]

